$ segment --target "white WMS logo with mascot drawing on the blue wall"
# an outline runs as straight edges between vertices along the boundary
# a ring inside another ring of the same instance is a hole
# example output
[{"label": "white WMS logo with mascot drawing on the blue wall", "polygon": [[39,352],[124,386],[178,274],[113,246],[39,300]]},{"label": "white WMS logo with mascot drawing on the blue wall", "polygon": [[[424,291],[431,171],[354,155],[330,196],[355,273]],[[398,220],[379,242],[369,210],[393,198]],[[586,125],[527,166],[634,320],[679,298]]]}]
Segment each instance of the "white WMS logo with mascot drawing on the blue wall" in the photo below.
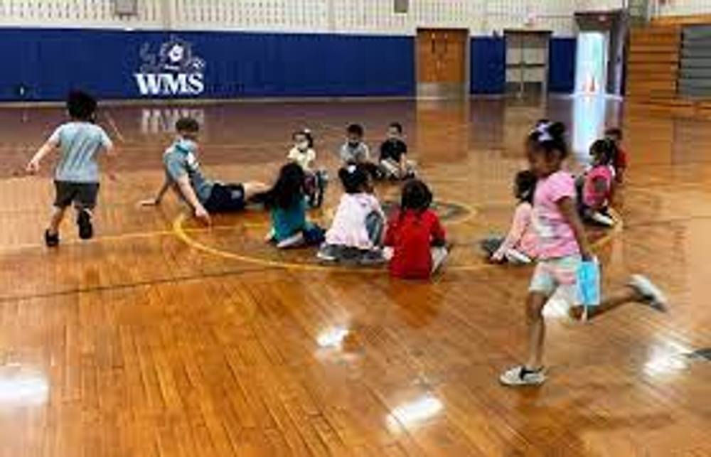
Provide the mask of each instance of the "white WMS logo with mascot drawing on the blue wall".
[{"label": "white WMS logo with mascot drawing on the blue wall", "polygon": [[141,70],[134,74],[141,95],[195,96],[205,92],[205,60],[193,55],[191,43],[171,36],[157,54],[145,43],[141,60]]}]

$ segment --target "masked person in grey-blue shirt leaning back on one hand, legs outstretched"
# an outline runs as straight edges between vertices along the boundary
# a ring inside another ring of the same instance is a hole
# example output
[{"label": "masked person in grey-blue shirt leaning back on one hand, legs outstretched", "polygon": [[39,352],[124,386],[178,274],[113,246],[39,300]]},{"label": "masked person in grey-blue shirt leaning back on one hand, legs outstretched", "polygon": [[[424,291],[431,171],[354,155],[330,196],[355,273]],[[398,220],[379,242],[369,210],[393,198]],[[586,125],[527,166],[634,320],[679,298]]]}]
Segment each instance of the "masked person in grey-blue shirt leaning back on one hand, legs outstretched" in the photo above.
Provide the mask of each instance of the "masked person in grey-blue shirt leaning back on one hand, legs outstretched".
[{"label": "masked person in grey-blue shirt leaning back on one hand, legs outstretched", "polygon": [[176,122],[178,137],[163,155],[166,179],[155,198],[144,206],[160,205],[169,189],[186,202],[198,220],[210,224],[212,213],[233,213],[245,209],[259,193],[268,188],[262,183],[223,184],[205,178],[198,161],[200,124],[191,117]]}]

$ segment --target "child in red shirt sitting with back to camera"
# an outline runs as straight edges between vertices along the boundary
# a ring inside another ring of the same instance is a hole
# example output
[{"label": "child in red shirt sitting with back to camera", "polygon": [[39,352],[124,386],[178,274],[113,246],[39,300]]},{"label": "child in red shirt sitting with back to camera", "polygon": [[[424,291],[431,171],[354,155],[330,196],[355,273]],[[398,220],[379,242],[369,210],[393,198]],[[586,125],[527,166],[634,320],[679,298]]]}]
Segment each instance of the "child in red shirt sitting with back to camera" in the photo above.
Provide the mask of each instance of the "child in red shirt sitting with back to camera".
[{"label": "child in red shirt sitting with back to camera", "polygon": [[425,183],[405,183],[400,210],[390,218],[385,235],[385,246],[392,249],[390,276],[429,279],[447,259],[444,229],[431,204],[432,192]]}]

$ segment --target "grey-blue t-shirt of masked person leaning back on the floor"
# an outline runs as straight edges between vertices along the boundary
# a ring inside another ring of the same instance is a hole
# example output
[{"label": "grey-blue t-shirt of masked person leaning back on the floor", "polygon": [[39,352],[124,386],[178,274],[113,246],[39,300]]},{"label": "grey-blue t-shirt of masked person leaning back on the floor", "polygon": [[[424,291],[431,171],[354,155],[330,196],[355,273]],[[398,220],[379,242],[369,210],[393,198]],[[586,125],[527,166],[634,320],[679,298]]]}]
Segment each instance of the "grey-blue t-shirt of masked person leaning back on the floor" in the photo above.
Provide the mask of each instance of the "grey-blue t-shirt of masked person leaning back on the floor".
[{"label": "grey-blue t-shirt of masked person leaning back on the floor", "polygon": [[195,141],[188,139],[178,139],[166,150],[163,156],[163,163],[166,167],[166,176],[169,181],[175,183],[183,176],[188,176],[190,185],[195,191],[198,200],[203,205],[210,198],[215,183],[208,180],[200,169],[200,163],[195,153],[198,145]]}]

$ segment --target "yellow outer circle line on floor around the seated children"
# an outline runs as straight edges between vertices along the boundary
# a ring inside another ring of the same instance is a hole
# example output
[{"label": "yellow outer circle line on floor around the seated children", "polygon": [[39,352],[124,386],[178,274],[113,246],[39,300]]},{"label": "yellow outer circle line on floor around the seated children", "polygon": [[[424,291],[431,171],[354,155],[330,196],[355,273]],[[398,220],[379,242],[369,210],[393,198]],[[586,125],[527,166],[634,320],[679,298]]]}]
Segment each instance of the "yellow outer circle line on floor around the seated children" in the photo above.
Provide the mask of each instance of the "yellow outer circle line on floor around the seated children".
[{"label": "yellow outer circle line on floor around the seated children", "polygon": [[[593,249],[599,249],[600,247],[603,247],[605,244],[608,244],[611,242],[614,237],[619,234],[622,231],[623,228],[623,223],[619,215],[612,211],[612,216],[617,222],[615,225],[614,229],[611,230],[608,234],[606,234],[604,237],[602,237],[600,240],[597,240],[593,244]],[[262,265],[264,267],[276,267],[276,268],[282,268],[282,269],[289,269],[289,270],[294,270],[294,271],[333,271],[333,272],[341,272],[341,273],[353,273],[353,272],[359,272],[359,273],[368,273],[368,274],[373,274],[373,273],[383,273],[383,269],[373,269],[373,268],[346,268],[346,267],[333,267],[333,266],[324,266],[324,265],[317,265],[317,264],[299,264],[299,263],[294,263],[294,262],[279,262],[276,260],[267,260],[267,259],[258,259],[256,257],[249,257],[245,256],[242,254],[236,254],[234,252],[228,252],[224,251],[222,249],[216,249],[214,247],[210,247],[206,244],[203,244],[201,242],[198,242],[192,237],[188,236],[188,232],[190,230],[186,230],[183,227],[183,224],[185,223],[186,216],[185,214],[178,215],[176,217],[176,220],[173,221],[173,233],[178,237],[178,239],[182,240],[184,243],[188,244],[188,246],[193,247],[194,249],[198,249],[199,251],[205,252],[205,254],[210,254],[215,257],[222,257],[223,259],[232,259],[232,260],[239,260],[241,262],[247,262],[251,264],[257,264],[257,265]],[[447,271],[483,271],[486,269],[493,269],[493,268],[500,268],[496,264],[480,264],[480,265],[463,265],[463,266],[451,266],[451,267],[445,267]]]}]

